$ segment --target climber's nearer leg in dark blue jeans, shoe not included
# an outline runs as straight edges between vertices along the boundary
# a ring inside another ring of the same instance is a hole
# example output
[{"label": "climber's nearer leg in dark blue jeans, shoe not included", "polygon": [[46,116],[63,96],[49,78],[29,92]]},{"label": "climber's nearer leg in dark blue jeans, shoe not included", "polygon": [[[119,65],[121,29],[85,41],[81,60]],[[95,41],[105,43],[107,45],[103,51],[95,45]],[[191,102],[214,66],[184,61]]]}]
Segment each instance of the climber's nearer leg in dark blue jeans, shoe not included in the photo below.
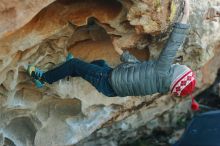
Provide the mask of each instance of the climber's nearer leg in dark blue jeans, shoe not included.
[{"label": "climber's nearer leg in dark blue jeans, shoe not included", "polygon": [[66,76],[82,77],[90,82],[99,92],[107,96],[116,96],[109,84],[110,67],[102,67],[73,58],[64,64],[45,72],[42,78],[52,84]]}]

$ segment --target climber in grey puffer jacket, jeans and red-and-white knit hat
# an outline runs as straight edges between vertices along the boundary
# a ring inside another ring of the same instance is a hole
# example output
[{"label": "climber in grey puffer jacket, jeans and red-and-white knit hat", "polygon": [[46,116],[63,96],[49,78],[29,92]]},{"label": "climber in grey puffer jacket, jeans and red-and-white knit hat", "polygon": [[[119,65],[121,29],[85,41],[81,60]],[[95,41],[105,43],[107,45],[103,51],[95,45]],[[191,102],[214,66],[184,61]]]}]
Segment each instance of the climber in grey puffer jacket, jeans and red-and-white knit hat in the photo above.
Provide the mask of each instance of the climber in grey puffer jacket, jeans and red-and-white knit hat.
[{"label": "climber in grey puffer jacket, jeans and red-and-white knit hat", "polygon": [[52,84],[66,76],[82,77],[109,97],[142,96],[167,93],[169,90],[176,96],[189,95],[195,87],[195,74],[185,65],[172,64],[189,28],[189,0],[184,0],[184,3],[182,19],[175,23],[158,60],[141,62],[128,51],[123,52],[113,40],[113,46],[123,62],[115,68],[109,67],[104,60],[86,63],[69,54],[65,63],[47,72],[29,65],[28,74],[37,87],[42,87],[45,82]]}]

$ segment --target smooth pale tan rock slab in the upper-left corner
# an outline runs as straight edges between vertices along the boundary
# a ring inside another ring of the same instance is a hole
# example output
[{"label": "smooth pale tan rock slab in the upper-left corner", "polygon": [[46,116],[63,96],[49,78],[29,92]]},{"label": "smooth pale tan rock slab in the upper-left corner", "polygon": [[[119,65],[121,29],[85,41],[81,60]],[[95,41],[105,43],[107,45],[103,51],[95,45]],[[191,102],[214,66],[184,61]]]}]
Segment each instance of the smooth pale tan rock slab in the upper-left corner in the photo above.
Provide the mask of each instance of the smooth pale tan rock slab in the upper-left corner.
[{"label": "smooth pale tan rock slab in the upper-left corner", "polygon": [[40,10],[54,0],[2,0],[0,2],[0,38],[28,23]]}]

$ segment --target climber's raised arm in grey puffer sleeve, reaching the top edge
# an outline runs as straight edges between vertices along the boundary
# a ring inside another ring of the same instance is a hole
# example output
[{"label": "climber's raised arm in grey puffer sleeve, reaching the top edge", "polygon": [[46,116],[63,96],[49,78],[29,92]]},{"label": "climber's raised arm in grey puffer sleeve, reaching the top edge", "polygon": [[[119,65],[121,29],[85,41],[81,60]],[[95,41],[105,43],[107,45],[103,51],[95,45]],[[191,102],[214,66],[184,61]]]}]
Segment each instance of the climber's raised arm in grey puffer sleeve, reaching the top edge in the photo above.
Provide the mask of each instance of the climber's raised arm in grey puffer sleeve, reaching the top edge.
[{"label": "climber's raised arm in grey puffer sleeve, reaching the top edge", "polygon": [[182,45],[188,32],[189,24],[187,24],[187,20],[189,17],[189,0],[184,0],[184,2],[185,7],[183,17],[180,22],[177,22],[174,25],[169,40],[157,60],[157,70],[164,73],[166,73],[172,65],[176,52]]}]

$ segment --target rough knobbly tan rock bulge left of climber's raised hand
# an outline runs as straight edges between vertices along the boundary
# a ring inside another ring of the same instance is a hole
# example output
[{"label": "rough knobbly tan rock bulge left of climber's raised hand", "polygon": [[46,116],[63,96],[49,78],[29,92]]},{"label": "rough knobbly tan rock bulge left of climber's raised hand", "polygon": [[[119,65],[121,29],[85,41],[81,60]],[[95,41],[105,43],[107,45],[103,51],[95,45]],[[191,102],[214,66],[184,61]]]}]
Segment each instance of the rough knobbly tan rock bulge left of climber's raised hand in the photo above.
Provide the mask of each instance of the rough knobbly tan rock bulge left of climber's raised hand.
[{"label": "rough knobbly tan rock bulge left of climber's raised hand", "polygon": [[176,20],[176,14],[180,13],[182,6],[179,0],[132,0],[132,2],[127,17],[138,33],[158,34],[166,31],[170,23]]}]

